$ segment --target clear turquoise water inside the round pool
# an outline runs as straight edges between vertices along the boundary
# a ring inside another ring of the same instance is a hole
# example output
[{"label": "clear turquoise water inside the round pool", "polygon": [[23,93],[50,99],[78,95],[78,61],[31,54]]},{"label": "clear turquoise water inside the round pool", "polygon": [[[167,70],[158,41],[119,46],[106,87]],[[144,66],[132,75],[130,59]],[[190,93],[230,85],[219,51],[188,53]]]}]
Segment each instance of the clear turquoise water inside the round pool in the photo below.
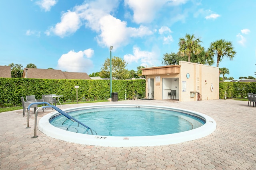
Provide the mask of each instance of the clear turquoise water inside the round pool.
[{"label": "clear turquoise water inside the round pool", "polygon": [[[93,135],[102,136],[165,135],[189,131],[205,124],[204,119],[194,115],[147,107],[89,108],[68,114],[93,129]],[[64,130],[92,135],[88,129],[62,115],[56,115],[49,121]]]}]

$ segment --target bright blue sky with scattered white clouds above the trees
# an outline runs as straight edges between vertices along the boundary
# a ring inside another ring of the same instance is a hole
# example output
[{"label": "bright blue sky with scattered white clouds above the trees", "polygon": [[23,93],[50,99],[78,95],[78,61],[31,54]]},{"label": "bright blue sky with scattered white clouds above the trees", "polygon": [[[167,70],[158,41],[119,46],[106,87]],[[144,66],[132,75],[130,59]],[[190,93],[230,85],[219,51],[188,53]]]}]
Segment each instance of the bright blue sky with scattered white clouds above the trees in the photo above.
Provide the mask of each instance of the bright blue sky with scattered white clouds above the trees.
[{"label": "bright blue sky with scattered white clouds above the trees", "polygon": [[[231,41],[224,58],[235,79],[256,72],[256,0],[1,0],[0,65],[100,72],[120,57],[126,69],[162,66],[186,34],[210,43]],[[216,56],[214,57],[216,66]]]}]

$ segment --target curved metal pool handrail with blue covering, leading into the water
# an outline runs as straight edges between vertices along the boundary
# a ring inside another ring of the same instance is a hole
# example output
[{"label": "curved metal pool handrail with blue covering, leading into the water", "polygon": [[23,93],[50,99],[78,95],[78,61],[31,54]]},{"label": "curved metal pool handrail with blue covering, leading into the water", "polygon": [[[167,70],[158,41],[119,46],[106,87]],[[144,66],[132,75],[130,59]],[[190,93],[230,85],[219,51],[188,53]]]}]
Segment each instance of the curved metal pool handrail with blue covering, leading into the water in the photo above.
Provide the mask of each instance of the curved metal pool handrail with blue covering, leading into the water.
[{"label": "curved metal pool handrail with blue covering, leading into the water", "polygon": [[[50,105],[49,103],[47,102],[35,102],[35,103],[31,103],[29,106],[28,106],[28,127],[27,128],[30,128],[29,127],[29,112],[30,112],[30,106],[32,106],[33,104],[47,104],[48,106],[42,106],[42,107],[39,107],[38,109],[36,109],[36,113],[35,113],[35,130],[34,130],[34,137],[33,138],[36,138],[38,137],[36,135],[36,126],[37,126],[37,112],[40,108],[48,108],[48,107],[52,107],[53,109],[55,109],[56,111],[58,111],[60,114],[64,115],[65,117],[67,117],[68,119],[70,119],[71,121],[74,121],[74,122],[77,122],[79,123],[80,125],[86,127],[87,129],[90,129],[92,135],[93,135],[93,132],[92,132],[92,129],[86,125],[84,125],[84,123],[78,121],[77,119],[75,119],[74,117],[68,115],[67,113],[65,113],[63,110],[61,110],[60,108],[56,107],[56,106],[52,106]],[[94,131],[95,132],[95,131]],[[96,133],[96,132],[95,132]],[[96,133],[97,135],[97,133]]]}]

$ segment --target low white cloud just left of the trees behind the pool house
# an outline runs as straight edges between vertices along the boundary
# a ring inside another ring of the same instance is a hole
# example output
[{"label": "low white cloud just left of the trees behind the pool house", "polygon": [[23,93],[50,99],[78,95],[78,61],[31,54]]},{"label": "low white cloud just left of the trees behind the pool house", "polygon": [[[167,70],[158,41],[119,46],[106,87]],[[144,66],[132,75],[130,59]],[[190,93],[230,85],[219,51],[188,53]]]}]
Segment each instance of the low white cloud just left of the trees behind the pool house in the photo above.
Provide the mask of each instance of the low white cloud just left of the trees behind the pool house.
[{"label": "low white cloud just left of the trees behind the pool house", "polygon": [[124,55],[124,60],[127,63],[142,63],[143,66],[153,66],[159,63],[157,52],[155,51],[140,51],[138,47],[133,47],[133,55]]}]

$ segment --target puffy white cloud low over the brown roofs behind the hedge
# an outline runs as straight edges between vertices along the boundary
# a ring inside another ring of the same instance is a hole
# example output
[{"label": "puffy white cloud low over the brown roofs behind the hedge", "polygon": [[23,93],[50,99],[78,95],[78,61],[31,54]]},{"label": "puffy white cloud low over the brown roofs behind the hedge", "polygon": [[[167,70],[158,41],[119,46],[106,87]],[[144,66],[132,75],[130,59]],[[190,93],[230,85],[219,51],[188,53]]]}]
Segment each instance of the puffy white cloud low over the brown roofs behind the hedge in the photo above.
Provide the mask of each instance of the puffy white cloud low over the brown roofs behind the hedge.
[{"label": "puffy white cloud low over the brown roofs behind the hedge", "polygon": [[87,72],[93,63],[89,59],[94,54],[92,49],[75,52],[74,50],[63,54],[58,60],[57,68],[69,72]]}]

